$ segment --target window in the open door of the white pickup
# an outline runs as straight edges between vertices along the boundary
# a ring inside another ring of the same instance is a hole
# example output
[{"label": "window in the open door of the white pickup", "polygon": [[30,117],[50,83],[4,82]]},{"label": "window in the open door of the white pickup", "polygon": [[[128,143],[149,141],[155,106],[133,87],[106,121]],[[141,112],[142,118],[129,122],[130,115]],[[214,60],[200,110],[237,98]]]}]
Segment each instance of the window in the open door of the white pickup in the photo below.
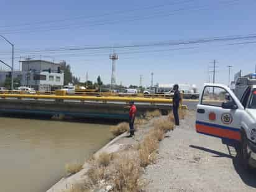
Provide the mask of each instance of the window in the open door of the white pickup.
[{"label": "window in the open door of the white pickup", "polygon": [[232,101],[232,98],[225,89],[214,86],[204,87],[201,104],[221,107],[222,103],[227,101]]}]

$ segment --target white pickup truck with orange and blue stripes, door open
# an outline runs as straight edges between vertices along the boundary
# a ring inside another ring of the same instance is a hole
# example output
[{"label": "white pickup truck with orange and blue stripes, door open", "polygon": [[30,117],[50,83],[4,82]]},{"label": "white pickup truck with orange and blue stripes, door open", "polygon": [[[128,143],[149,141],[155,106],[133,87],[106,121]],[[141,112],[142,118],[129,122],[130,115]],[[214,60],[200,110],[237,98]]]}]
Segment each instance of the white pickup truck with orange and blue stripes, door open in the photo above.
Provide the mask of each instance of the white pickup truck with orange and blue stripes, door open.
[{"label": "white pickup truck with orange and blue stripes, door open", "polygon": [[256,168],[256,83],[240,97],[220,84],[205,84],[196,112],[196,132],[234,146],[245,169]]}]

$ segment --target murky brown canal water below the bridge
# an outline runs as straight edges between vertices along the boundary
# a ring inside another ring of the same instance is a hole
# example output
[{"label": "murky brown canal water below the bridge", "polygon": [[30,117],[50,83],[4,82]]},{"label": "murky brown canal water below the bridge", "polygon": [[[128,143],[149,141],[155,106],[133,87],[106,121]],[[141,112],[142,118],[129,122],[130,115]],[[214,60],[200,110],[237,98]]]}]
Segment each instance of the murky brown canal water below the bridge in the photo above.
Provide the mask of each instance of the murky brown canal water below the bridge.
[{"label": "murky brown canal water below the bridge", "polygon": [[0,191],[44,192],[110,139],[109,125],[0,117]]}]

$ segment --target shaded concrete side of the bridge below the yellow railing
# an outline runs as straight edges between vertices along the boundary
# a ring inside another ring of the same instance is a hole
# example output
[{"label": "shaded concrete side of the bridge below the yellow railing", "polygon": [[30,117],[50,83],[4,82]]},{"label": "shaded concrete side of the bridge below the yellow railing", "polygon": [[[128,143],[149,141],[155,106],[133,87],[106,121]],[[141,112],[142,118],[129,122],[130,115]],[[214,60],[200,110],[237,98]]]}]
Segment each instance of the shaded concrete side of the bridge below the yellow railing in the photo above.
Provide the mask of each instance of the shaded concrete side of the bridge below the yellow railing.
[{"label": "shaded concrete side of the bridge below the yellow railing", "polygon": [[[34,99],[0,99],[0,113],[65,115],[103,119],[128,118],[125,103],[97,103],[80,101],[49,101]],[[167,104],[137,104],[138,116],[158,109],[167,114],[171,106]]]}]

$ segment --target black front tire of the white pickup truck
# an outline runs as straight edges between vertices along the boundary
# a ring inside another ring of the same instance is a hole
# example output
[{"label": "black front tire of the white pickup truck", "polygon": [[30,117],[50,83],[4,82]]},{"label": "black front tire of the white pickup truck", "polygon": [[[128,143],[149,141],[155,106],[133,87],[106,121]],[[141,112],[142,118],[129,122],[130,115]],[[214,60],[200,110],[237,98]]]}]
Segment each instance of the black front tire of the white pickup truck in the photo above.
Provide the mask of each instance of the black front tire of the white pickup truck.
[{"label": "black front tire of the white pickup truck", "polygon": [[249,153],[247,151],[247,146],[248,146],[248,139],[247,136],[245,134],[245,132],[243,131],[241,134],[241,147],[240,147],[240,160],[242,163],[242,166],[244,167],[245,170],[249,171],[251,170],[251,167],[249,165]]}]

